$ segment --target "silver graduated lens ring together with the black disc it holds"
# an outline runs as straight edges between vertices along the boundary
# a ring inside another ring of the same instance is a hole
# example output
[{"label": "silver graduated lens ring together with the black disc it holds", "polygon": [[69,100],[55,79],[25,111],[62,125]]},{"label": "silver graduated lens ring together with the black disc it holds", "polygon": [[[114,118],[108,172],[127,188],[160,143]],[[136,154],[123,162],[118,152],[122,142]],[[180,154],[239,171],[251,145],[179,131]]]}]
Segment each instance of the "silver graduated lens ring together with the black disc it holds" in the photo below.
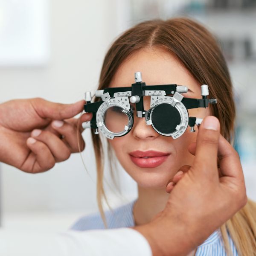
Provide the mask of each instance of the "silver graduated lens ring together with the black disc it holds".
[{"label": "silver graduated lens ring together with the black disc it holds", "polygon": [[182,102],[171,96],[151,96],[151,109],[145,114],[147,125],[164,136],[180,137],[189,125],[189,114]]}]

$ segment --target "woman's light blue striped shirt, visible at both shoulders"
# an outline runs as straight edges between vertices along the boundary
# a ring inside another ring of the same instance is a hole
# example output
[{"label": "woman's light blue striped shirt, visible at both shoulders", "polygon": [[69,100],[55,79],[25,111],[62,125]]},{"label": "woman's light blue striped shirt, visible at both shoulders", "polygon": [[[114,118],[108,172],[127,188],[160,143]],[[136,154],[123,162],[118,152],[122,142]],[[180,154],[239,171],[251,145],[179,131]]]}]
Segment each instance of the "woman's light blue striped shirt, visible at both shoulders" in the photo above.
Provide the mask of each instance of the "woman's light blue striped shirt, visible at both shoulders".
[{"label": "woman's light blue striped shirt, visible at both shoulders", "polygon": [[[134,227],[133,206],[135,201],[105,212],[108,228]],[[105,229],[99,213],[80,218],[71,227],[72,230]],[[238,256],[233,240],[229,236],[233,256]],[[203,244],[197,247],[195,256],[227,256],[220,230],[215,230]]]}]

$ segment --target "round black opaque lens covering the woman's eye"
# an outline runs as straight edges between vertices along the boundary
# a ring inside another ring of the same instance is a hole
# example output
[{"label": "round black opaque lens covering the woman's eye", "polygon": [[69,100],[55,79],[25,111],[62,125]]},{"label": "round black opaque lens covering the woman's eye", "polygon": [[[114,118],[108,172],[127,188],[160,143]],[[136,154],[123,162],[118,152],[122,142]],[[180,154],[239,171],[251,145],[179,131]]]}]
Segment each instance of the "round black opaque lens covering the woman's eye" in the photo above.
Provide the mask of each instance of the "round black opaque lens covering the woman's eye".
[{"label": "round black opaque lens covering the woman's eye", "polygon": [[164,134],[171,134],[176,131],[176,126],[180,124],[181,117],[175,107],[163,103],[154,108],[151,120],[157,131]]}]

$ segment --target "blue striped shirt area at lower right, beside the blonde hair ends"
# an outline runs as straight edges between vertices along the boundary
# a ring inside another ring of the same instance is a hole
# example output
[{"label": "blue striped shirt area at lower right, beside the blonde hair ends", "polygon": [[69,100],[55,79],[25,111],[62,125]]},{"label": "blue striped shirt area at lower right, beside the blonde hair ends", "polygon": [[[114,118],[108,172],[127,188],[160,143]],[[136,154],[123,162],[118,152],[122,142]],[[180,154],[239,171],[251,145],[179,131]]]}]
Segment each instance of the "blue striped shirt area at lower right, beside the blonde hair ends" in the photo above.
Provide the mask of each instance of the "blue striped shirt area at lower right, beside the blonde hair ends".
[{"label": "blue striped shirt area at lower right, beside the blonde hair ends", "polygon": [[[236,250],[235,244],[228,234],[230,249],[232,251],[233,256],[238,256],[238,252]],[[205,241],[203,244],[198,246],[195,256],[203,256],[203,255],[211,255],[211,256],[227,256],[224,247],[224,241],[221,236],[220,230],[215,230]]]}]

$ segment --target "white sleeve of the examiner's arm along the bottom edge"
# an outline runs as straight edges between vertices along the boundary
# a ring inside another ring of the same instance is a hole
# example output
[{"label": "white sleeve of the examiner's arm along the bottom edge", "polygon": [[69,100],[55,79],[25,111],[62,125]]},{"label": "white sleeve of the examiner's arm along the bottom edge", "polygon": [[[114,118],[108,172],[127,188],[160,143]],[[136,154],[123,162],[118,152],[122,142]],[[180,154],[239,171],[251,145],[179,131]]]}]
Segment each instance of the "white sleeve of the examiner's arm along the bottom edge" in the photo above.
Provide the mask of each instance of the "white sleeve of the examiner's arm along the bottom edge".
[{"label": "white sleeve of the examiner's arm along the bottom edge", "polygon": [[130,228],[58,235],[0,230],[1,256],[151,256],[148,241]]}]

